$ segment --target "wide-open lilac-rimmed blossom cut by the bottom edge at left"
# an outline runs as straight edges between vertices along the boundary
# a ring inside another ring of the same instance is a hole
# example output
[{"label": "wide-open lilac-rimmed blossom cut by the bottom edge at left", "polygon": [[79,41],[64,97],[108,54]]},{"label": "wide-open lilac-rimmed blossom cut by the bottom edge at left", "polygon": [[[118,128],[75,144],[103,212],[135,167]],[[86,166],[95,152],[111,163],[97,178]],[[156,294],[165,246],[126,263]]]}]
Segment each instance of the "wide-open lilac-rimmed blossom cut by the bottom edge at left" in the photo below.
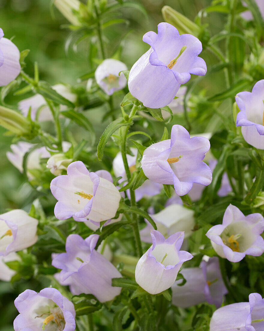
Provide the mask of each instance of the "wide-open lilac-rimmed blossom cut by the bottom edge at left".
[{"label": "wide-open lilac-rimmed blossom cut by the bottom edge at left", "polygon": [[52,287],[39,293],[25,290],[15,300],[19,315],[14,320],[15,331],[74,331],[73,303]]}]

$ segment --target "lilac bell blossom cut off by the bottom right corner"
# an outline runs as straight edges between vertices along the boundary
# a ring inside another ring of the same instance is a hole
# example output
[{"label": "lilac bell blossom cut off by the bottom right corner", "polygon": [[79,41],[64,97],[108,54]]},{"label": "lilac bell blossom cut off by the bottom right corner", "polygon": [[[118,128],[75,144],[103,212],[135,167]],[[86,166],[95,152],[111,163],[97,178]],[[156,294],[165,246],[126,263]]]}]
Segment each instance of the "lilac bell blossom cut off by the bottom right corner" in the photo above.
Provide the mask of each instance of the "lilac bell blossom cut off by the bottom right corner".
[{"label": "lilac bell blossom cut off by the bottom right corner", "polygon": [[213,313],[210,331],[264,330],[264,299],[258,293],[249,294],[249,302],[223,306]]}]

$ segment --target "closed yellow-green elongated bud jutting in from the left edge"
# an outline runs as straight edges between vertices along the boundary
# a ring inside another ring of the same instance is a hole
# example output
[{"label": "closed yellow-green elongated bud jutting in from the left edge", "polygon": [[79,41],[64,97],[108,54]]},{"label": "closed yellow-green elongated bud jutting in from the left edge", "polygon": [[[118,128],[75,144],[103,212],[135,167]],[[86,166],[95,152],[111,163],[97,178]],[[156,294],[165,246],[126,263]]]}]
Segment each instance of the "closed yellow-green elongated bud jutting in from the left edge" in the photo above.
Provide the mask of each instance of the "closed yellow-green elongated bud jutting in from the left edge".
[{"label": "closed yellow-green elongated bud jutting in from the left edge", "polygon": [[32,139],[37,135],[37,125],[18,112],[0,106],[0,125],[12,133]]}]

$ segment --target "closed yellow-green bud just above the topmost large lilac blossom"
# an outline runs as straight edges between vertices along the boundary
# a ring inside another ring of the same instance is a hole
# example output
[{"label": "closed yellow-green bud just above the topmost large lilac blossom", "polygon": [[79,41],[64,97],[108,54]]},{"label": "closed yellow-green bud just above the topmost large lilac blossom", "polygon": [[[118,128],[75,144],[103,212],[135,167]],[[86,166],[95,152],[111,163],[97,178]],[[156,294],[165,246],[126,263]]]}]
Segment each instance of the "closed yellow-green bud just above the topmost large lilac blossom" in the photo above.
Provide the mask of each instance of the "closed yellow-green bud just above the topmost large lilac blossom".
[{"label": "closed yellow-green bud just above the topmost large lilac blossom", "polygon": [[164,6],[161,12],[164,20],[174,25],[180,34],[190,33],[196,37],[200,34],[201,29],[197,24],[193,23],[187,17],[172,9],[170,6]]}]

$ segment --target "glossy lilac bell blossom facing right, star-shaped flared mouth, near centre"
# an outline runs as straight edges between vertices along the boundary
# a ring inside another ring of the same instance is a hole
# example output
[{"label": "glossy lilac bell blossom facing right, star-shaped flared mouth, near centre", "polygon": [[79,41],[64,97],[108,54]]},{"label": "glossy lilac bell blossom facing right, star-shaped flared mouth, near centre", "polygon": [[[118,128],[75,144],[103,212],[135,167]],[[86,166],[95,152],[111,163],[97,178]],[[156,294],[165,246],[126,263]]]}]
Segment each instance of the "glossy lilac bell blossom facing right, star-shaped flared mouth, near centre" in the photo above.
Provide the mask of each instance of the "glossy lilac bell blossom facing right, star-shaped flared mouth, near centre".
[{"label": "glossy lilac bell blossom facing right, star-shaped flared mouth, near centre", "polygon": [[210,142],[207,138],[190,138],[182,125],[173,125],[171,139],[145,149],[141,166],[150,180],[173,184],[176,194],[185,195],[191,190],[193,183],[211,183],[212,171],[202,162],[209,149]]}]

